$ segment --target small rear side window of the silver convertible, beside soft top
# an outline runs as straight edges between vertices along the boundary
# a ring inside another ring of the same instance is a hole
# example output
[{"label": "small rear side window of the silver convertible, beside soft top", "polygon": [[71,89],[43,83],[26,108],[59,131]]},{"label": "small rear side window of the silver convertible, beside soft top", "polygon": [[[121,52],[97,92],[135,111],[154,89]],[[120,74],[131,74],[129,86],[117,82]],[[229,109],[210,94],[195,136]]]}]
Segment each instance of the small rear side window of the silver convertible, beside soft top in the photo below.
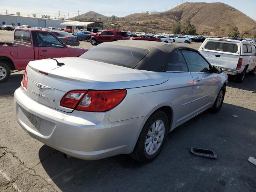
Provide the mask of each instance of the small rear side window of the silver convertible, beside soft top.
[{"label": "small rear side window of the silver convertible, beside soft top", "polygon": [[185,71],[188,72],[188,66],[180,50],[172,53],[168,59],[166,71]]}]

